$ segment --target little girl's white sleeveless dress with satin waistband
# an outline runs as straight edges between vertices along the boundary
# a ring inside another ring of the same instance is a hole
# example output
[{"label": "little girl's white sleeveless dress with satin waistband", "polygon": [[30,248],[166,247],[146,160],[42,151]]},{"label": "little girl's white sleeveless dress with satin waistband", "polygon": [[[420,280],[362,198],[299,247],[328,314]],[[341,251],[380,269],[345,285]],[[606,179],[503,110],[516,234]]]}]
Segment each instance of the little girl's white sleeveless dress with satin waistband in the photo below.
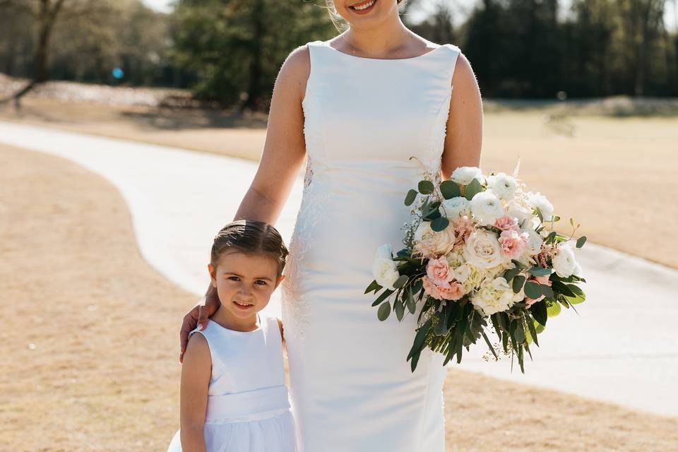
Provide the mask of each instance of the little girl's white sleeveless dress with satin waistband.
[{"label": "little girl's white sleeveless dress with satin waistband", "polygon": [[[203,331],[212,357],[205,420],[207,452],[293,452],[283,341],[278,319],[258,314],[254,331],[233,331],[208,320]],[[180,430],[167,452],[181,452]]]}]

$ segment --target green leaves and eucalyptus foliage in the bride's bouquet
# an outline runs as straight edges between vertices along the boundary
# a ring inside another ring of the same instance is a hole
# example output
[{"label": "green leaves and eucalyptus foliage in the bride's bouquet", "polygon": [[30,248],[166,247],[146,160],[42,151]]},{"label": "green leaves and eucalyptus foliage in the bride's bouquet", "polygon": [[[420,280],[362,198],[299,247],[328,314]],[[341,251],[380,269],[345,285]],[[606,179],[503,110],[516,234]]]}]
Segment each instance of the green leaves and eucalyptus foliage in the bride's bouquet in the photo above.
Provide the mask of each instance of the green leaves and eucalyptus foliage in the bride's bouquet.
[{"label": "green leaves and eucalyptus foliage in the bride's bouquet", "polygon": [[[439,194],[444,199],[451,199],[463,196],[472,200],[472,198],[487,189],[478,179],[472,179],[469,184],[457,184],[453,181],[445,181],[439,185]],[[405,206],[412,206],[417,196],[423,196],[423,202],[420,207],[421,220],[430,222],[431,229],[434,232],[441,232],[449,225],[448,218],[441,215],[439,207],[441,201],[436,198],[436,187],[428,180],[422,180],[417,186],[417,190],[410,190],[405,196]],[[540,226],[536,232],[544,230],[544,217],[539,208],[535,208],[535,215],[540,219]],[[548,222],[553,223],[560,220],[553,216]],[[574,227],[573,220],[570,219],[573,226],[573,233],[579,227]],[[487,230],[498,231],[496,227],[489,225],[484,227]],[[572,237],[566,237],[555,231],[550,232],[543,241],[543,244],[553,245],[564,242]],[[576,247],[581,248],[586,241],[586,237],[579,237],[576,240]],[[403,241],[406,244],[405,249],[400,249],[393,257],[396,262],[398,279],[393,283],[393,289],[382,287],[376,280],[373,280],[365,294],[374,292],[379,296],[372,303],[372,307],[378,307],[377,317],[380,321],[386,321],[391,311],[396,313],[398,321],[402,321],[406,312],[415,314],[417,304],[422,305],[422,309],[417,318],[415,338],[412,348],[407,356],[410,361],[412,372],[417,367],[422,351],[428,347],[434,352],[445,355],[444,365],[456,358],[460,363],[463,355],[463,349],[470,350],[471,345],[475,345],[480,338],[487,344],[489,350],[495,359],[501,350],[504,354],[511,354],[511,369],[513,369],[513,357],[518,357],[521,371],[525,373],[523,357],[525,352],[532,359],[530,345],[534,343],[539,346],[537,335],[544,331],[547,319],[557,316],[561,307],[566,309],[585,300],[585,294],[578,283],[585,283],[585,279],[577,275],[570,275],[567,278],[561,278],[552,268],[545,266],[525,266],[524,263],[511,259],[514,266],[504,271],[503,278],[509,283],[509,287],[514,293],[524,293],[530,299],[539,299],[531,306],[525,300],[516,302],[505,311],[496,312],[489,316],[482,314],[482,311],[475,309],[469,295],[464,295],[458,300],[439,300],[426,293],[422,283],[422,277],[427,273],[428,258],[424,258],[413,253],[412,233]],[[531,276],[549,275],[551,285],[536,283],[534,280],[528,280]],[[381,291],[381,293],[379,293]],[[423,323],[422,323],[423,321]],[[489,323],[492,324],[490,329]],[[487,331],[486,331],[487,330]],[[492,333],[494,330],[494,333]],[[496,335],[498,344],[492,345],[488,335]]]}]

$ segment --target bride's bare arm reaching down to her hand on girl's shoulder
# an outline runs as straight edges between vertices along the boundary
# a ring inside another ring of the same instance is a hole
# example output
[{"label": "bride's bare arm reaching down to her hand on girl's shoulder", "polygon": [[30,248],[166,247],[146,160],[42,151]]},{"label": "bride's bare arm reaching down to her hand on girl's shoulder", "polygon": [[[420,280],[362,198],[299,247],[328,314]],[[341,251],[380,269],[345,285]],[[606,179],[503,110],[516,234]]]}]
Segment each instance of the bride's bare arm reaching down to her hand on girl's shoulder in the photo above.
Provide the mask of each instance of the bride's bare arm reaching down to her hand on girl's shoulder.
[{"label": "bride's bare arm reaching down to her hand on girl's shoulder", "polygon": [[[302,100],[310,72],[311,61],[306,45],[292,51],[280,68],[270,101],[261,161],[234,220],[260,220],[270,225],[275,225],[278,220],[306,155]],[[207,318],[218,307],[219,298],[210,284],[205,297],[184,316],[179,333],[179,362],[183,361],[189,332],[198,323],[203,329]]]}]

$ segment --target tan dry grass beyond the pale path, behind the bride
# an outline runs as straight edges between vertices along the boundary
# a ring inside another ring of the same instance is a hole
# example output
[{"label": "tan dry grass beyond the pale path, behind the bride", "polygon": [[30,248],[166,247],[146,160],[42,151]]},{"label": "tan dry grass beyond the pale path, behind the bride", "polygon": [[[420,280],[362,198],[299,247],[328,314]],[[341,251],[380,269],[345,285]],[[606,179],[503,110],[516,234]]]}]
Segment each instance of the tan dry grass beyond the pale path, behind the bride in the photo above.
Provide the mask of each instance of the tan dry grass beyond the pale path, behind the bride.
[{"label": "tan dry grass beyond the pale path, behind the bride", "polygon": [[[518,177],[552,201],[557,230],[571,233],[573,218],[577,236],[678,268],[678,100],[654,102],[487,101],[481,167],[509,173],[520,157]],[[0,120],[258,160],[267,117],[36,95],[0,106]]]}]

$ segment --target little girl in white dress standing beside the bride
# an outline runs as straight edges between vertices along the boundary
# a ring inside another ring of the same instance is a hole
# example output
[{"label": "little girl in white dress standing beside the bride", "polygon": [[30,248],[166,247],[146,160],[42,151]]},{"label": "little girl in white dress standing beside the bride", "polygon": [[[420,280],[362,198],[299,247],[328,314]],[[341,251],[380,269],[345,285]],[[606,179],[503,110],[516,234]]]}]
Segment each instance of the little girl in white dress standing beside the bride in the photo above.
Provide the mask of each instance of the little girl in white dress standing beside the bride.
[{"label": "little girl in white dress standing beside the bride", "polygon": [[190,333],[181,429],[168,452],[296,450],[283,325],[259,312],[285,278],[286,256],[280,234],[265,222],[231,222],[215,237],[208,270],[221,305],[203,330]]}]

